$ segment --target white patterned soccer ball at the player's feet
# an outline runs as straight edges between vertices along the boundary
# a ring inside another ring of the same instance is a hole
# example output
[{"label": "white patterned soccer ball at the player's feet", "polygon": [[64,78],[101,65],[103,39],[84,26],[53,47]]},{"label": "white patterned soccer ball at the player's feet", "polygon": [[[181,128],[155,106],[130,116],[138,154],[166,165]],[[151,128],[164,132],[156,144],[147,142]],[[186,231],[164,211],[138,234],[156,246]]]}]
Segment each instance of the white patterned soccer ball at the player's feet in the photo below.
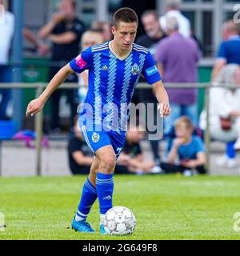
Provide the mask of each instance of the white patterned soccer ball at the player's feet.
[{"label": "white patterned soccer ball at the player's feet", "polygon": [[106,212],[104,218],[106,234],[132,234],[136,226],[136,218],[131,210],[124,206],[114,206]]}]

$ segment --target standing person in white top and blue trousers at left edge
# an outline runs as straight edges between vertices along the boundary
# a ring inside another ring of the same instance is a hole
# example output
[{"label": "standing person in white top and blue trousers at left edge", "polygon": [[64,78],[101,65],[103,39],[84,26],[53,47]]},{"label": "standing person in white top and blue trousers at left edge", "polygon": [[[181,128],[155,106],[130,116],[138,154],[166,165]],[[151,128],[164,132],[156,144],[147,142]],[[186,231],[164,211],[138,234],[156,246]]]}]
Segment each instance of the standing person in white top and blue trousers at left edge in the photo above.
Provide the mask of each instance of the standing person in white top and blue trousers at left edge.
[{"label": "standing person in white top and blue trousers at left edge", "polygon": [[[5,1],[0,0],[0,5],[4,5]],[[11,82],[12,71],[9,62],[10,46],[14,35],[14,14],[5,10],[0,22],[0,82]],[[0,89],[2,96],[0,102],[0,120],[7,120],[6,108],[11,98],[10,89]]]}]

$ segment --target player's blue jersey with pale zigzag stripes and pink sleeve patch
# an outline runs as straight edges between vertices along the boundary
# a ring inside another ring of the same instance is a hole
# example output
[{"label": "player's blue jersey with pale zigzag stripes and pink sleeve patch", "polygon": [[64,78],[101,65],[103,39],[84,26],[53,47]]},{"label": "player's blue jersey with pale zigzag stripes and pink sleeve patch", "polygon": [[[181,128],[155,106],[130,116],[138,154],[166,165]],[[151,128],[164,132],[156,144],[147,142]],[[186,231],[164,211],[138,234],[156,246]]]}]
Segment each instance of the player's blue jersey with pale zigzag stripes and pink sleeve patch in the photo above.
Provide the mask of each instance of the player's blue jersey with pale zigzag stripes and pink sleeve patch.
[{"label": "player's blue jersey with pale zigzag stripes and pink sleeve patch", "polygon": [[140,75],[143,74],[150,85],[161,80],[150,51],[137,44],[133,44],[125,59],[114,54],[110,42],[91,46],[74,58],[70,67],[78,74],[89,70],[84,103],[93,108],[94,124],[105,120],[111,129],[117,130],[122,127],[123,119],[128,118],[129,104]]}]

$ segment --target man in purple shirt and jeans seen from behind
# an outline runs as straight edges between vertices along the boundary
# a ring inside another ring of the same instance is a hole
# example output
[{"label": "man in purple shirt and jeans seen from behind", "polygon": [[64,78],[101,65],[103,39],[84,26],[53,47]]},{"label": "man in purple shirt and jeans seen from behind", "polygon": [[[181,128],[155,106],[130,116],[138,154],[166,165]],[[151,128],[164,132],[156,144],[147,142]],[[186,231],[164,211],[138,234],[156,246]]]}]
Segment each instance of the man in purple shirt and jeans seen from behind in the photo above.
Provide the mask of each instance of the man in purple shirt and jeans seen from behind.
[{"label": "man in purple shirt and jeans seen from behind", "polygon": [[[184,38],[178,32],[178,21],[167,18],[167,38],[158,44],[155,60],[164,82],[197,82],[200,50],[192,38]],[[197,89],[168,89],[172,114],[165,118],[164,133],[170,134],[174,121],[182,115],[190,117],[198,125]]]}]

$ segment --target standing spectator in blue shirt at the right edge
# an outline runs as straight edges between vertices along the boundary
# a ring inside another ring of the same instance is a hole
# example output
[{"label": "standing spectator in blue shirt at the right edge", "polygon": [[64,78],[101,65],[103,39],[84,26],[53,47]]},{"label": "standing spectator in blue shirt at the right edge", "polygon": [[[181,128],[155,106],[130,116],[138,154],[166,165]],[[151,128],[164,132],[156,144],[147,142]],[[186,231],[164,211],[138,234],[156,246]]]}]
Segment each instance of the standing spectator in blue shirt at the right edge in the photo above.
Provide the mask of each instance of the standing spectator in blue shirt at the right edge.
[{"label": "standing spectator in blue shirt at the right edge", "polygon": [[218,48],[218,58],[212,71],[214,79],[223,66],[230,63],[240,65],[240,29],[239,25],[232,20],[225,22],[222,26],[223,42]]}]

